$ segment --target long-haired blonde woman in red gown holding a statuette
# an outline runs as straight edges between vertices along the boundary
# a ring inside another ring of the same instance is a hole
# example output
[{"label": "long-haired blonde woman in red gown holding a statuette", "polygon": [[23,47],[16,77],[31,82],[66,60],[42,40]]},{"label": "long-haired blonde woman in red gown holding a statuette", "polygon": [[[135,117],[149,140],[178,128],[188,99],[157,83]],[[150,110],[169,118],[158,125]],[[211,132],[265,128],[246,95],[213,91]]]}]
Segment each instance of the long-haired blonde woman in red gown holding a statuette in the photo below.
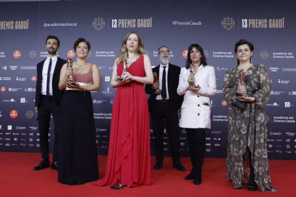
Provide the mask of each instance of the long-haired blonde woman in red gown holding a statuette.
[{"label": "long-haired blonde woman in red gown holding a statuette", "polygon": [[[153,83],[150,59],[143,51],[140,35],[129,32],[115,60],[111,87],[114,97],[106,174],[95,185],[149,185],[150,134],[144,84]],[[123,54],[127,52],[126,72]],[[119,80],[119,77],[122,79]]]}]

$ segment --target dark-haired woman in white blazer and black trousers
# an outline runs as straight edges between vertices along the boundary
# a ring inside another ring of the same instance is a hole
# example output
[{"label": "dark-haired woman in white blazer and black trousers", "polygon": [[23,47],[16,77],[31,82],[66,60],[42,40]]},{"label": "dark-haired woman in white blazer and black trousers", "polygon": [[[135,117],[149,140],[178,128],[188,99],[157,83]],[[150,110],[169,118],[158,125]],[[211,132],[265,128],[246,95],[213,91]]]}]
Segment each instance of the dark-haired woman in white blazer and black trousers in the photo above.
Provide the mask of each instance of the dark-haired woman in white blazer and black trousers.
[{"label": "dark-haired woman in white blazer and black trousers", "polygon": [[[191,75],[189,67],[195,66],[195,74]],[[196,87],[189,86],[194,82]],[[184,94],[179,126],[185,128],[191,156],[192,171],[185,176],[199,185],[202,183],[202,166],[205,154],[205,129],[211,128],[210,96],[216,94],[215,68],[207,66],[203,48],[199,44],[191,44],[188,49],[186,66],[181,68],[179,95]]]}]

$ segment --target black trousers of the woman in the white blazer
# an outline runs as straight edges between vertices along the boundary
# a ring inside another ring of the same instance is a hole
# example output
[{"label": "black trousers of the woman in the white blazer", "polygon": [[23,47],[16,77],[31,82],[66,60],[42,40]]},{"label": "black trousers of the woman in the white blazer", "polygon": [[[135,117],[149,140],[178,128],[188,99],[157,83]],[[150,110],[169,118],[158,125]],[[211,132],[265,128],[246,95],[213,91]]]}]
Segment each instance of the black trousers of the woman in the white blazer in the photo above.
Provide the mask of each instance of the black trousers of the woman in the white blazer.
[{"label": "black trousers of the woman in the white blazer", "polygon": [[186,128],[186,133],[192,168],[200,168],[205,156],[205,129]]}]

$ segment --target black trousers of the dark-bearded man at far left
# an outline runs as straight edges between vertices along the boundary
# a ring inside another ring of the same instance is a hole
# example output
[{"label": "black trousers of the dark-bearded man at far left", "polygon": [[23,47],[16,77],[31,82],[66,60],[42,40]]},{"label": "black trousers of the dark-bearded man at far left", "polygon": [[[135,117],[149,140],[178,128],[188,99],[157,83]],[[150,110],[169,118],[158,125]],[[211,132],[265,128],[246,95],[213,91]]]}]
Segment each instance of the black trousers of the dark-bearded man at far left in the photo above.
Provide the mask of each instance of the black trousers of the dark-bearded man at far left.
[{"label": "black trousers of the dark-bearded man at far left", "polygon": [[52,96],[46,97],[42,95],[38,106],[38,125],[40,151],[43,159],[49,158],[48,132],[51,114],[54,125],[54,144],[52,155],[52,161],[54,162],[58,160],[59,106],[55,104]]}]

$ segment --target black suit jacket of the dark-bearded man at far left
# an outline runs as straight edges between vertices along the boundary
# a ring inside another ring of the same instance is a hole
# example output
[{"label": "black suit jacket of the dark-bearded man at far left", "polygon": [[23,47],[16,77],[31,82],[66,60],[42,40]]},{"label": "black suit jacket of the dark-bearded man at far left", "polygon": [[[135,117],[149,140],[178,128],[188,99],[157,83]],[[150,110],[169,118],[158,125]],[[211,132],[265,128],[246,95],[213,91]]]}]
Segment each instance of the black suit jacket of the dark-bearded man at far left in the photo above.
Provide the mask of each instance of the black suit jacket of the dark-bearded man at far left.
[{"label": "black suit jacket of the dark-bearded man at far left", "polygon": [[[41,84],[42,84],[42,70],[43,65],[46,59],[37,64],[37,84],[36,84],[36,96],[35,96],[35,107],[39,106],[40,96],[41,96]],[[54,102],[56,105],[60,105],[64,91],[59,89],[60,81],[60,72],[63,65],[66,64],[66,60],[63,60],[58,57],[57,63],[54,68],[53,77],[52,77],[52,94]]]}]

